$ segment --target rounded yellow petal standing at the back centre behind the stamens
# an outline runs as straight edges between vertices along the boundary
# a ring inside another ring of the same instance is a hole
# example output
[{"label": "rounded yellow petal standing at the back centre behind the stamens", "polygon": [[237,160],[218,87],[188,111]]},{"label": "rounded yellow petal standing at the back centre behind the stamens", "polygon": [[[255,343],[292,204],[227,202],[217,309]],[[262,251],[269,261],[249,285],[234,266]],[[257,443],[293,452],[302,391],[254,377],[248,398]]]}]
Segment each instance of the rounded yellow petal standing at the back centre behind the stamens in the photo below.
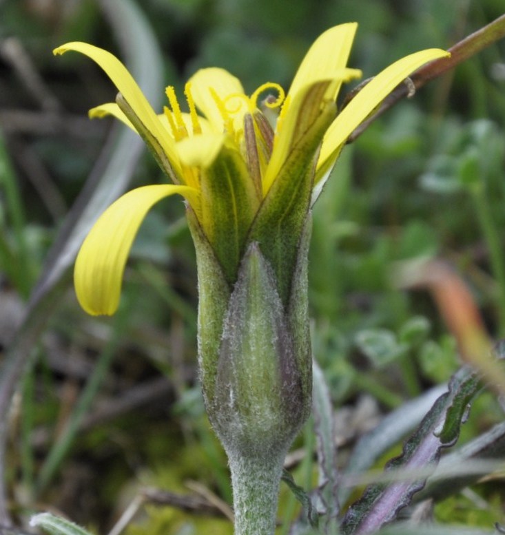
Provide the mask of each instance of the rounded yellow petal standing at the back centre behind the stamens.
[{"label": "rounded yellow petal standing at the back centre behind the stamens", "polygon": [[[226,109],[234,110],[238,108],[238,113],[232,114],[230,117],[235,128],[241,125],[241,119],[247,111],[247,107],[244,105],[247,101],[247,96],[245,96],[244,89],[238,78],[229,74],[225,69],[209,67],[208,69],[197,71],[189,78],[189,83],[191,84],[191,93],[196,106],[207,117],[216,132],[223,132],[226,126]],[[213,92],[215,96],[213,96]],[[231,95],[236,95],[237,98],[229,99]],[[218,101],[223,103],[225,109],[218,105],[216,97]],[[240,99],[243,99],[243,102],[240,102]]]}]

